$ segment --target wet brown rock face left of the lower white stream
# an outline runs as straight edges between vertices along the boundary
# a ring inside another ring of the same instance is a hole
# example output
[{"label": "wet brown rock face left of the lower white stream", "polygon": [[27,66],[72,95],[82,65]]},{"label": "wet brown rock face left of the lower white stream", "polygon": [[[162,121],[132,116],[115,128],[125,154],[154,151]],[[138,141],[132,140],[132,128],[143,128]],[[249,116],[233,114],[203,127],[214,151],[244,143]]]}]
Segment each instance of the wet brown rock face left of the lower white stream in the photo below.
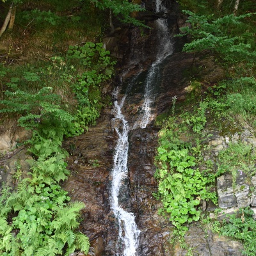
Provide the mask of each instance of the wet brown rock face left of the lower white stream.
[{"label": "wet brown rock face left of the lower white stream", "polygon": [[92,248],[89,255],[111,255],[107,244],[117,237],[116,223],[111,218],[109,206],[109,173],[113,164],[114,141],[110,114],[105,113],[99,125],[64,143],[71,155],[68,159],[71,175],[64,189],[72,200],[86,205],[80,229],[90,237]]}]

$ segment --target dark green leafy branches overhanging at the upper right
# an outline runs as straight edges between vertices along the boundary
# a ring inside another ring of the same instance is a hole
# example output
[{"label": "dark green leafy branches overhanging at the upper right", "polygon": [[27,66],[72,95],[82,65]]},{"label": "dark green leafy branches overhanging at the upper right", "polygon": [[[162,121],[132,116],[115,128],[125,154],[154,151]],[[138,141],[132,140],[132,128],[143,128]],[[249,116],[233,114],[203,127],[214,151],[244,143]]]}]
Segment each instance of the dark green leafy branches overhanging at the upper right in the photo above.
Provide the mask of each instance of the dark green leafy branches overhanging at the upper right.
[{"label": "dark green leafy branches overhanging at the upper right", "polygon": [[214,15],[197,15],[185,11],[189,15],[188,22],[191,26],[181,29],[184,35],[191,35],[192,41],[184,45],[183,51],[191,52],[209,50],[216,54],[222,64],[241,67],[250,70],[255,67],[256,52],[254,47],[253,28],[246,24],[255,13],[246,13],[224,17]]}]

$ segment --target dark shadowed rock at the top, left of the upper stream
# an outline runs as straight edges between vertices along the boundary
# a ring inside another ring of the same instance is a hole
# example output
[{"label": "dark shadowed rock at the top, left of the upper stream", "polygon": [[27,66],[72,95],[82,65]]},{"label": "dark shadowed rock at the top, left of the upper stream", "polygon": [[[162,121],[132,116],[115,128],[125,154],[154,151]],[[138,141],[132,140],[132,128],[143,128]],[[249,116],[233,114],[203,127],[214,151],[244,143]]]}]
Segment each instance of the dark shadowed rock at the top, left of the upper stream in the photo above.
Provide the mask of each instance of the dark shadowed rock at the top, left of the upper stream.
[{"label": "dark shadowed rock at the top, left of the upper stream", "polygon": [[[114,33],[106,36],[103,40],[106,49],[111,52],[111,55],[118,58],[118,69],[121,72],[124,71],[125,77],[136,74],[139,68],[145,70],[156,60],[157,33],[155,32],[154,20],[159,17],[164,17],[164,19],[168,20],[168,26],[172,35],[179,33],[179,28],[186,23],[186,17],[180,12],[177,1],[165,1],[168,7],[168,12],[166,13],[155,13],[155,1],[145,0],[141,1],[141,4],[145,7],[146,11],[137,13],[136,18],[142,20],[149,28],[129,26],[121,29],[120,22],[116,20],[114,22]],[[183,38],[179,38],[179,40],[173,39],[173,44],[177,48],[176,51],[180,51],[184,40]]]}]

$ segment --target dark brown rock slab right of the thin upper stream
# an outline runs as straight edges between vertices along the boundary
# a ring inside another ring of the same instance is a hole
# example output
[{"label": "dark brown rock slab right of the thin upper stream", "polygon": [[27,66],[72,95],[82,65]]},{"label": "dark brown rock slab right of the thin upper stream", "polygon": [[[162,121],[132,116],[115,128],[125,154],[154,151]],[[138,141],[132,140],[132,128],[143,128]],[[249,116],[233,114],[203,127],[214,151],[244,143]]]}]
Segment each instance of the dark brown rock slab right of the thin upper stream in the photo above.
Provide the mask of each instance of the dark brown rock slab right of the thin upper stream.
[{"label": "dark brown rock slab right of the thin upper stream", "polygon": [[225,76],[212,57],[195,58],[194,54],[186,52],[177,52],[170,56],[164,61],[160,72],[161,83],[157,88],[155,103],[157,114],[171,108],[172,97],[176,96],[178,101],[186,99],[186,95],[192,90],[191,76],[208,85]]}]

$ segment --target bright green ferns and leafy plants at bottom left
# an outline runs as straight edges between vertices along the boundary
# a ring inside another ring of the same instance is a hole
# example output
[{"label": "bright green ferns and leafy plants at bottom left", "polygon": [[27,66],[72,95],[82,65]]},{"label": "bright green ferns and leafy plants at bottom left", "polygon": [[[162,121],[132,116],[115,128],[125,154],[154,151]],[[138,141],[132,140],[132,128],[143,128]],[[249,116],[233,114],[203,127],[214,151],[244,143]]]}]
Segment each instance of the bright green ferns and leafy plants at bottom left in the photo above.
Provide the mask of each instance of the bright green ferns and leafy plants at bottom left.
[{"label": "bright green ferns and leafy plants at bottom left", "polygon": [[88,237],[76,231],[79,211],[84,204],[70,203],[67,191],[58,184],[69,174],[65,163],[67,152],[61,149],[62,140],[63,130],[55,131],[51,127],[35,130],[28,141],[28,151],[35,156],[28,160],[31,178],[19,180],[12,194],[3,187],[0,201],[2,255],[65,253],[68,256],[75,250],[88,253]]}]

